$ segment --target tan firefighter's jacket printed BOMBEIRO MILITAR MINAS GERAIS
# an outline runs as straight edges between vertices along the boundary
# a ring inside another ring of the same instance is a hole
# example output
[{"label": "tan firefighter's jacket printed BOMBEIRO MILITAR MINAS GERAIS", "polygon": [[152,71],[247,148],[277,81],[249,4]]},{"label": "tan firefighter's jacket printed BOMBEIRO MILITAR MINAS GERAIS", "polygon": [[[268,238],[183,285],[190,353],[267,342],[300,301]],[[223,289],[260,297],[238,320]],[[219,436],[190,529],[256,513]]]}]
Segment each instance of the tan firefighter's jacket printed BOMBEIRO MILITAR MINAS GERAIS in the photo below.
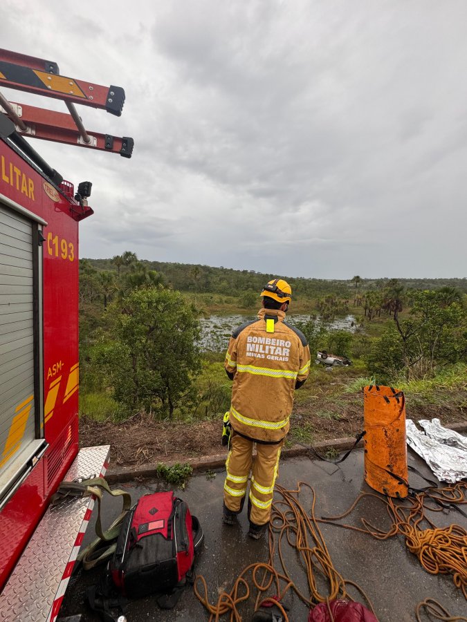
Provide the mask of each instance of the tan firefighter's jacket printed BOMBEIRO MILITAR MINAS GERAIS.
[{"label": "tan firefighter's jacket printed BOMBEIRO MILITAR MINAS GERAIS", "polygon": [[230,424],[252,440],[284,438],[295,384],[309,375],[306,337],[284,319],[283,311],[262,309],[257,320],[242,324],[230,338],[225,361],[233,377]]}]

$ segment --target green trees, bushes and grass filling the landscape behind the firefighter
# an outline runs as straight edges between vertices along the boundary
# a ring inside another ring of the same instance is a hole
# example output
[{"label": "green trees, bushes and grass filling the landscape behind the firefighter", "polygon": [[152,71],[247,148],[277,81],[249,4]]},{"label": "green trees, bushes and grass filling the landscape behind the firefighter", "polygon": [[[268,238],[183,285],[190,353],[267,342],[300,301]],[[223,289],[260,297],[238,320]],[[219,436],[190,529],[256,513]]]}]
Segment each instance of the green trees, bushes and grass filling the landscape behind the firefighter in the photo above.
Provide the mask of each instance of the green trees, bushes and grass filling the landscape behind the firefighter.
[{"label": "green trees, bushes and grass filling the landscape behind the firefighter", "polygon": [[[232,386],[221,345],[230,326],[219,323],[219,343],[202,352],[199,318],[255,314],[272,276],[139,261],[129,251],[81,260],[80,413],[115,422],[138,412],[188,422],[221,416]],[[440,388],[466,390],[466,279],[288,280],[293,312],[309,317],[289,321],[306,335],[312,359],[327,350],[353,361],[333,373],[312,366],[296,394],[299,409],[316,401],[323,425],[340,424],[348,403],[342,400],[375,381],[427,403],[437,401]],[[331,322],[346,314],[354,317],[354,332],[333,329]],[[293,438],[306,444],[316,433],[305,420],[292,427]]]}]

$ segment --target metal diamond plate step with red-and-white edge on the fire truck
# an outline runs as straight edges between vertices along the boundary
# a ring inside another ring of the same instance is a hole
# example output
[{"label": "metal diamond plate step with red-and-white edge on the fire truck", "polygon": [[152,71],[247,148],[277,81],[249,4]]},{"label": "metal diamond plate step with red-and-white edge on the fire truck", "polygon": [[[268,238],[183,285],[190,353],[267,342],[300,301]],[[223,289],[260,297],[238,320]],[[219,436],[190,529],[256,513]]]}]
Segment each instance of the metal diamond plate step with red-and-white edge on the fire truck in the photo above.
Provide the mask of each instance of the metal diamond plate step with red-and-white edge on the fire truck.
[{"label": "metal diamond plate step with red-and-white edge on the fire truck", "polygon": [[[65,480],[104,475],[109,451],[84,447]],[[0,595],[0,621],[55,622],[93,507],[94,497],[48,507]]]}]

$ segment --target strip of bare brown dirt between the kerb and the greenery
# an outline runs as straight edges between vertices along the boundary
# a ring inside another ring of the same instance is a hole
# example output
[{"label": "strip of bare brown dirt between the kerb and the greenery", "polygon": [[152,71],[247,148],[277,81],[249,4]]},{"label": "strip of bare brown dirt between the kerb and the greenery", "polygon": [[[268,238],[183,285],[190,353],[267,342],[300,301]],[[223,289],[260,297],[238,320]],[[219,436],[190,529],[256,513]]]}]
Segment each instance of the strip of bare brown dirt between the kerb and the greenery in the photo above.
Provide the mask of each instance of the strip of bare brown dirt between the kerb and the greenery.
[{"label": "strip of bare brown dirt between the kerb and the greenery", "polygon": [[[407,417],[417,421],[438,417],[442,424],[467,422],[467,391],[446,396],[442,406],[421,403],[407,396]],[[297,404],[291,417],[287,439],[313,444],[322,440],[351,437],[363,429],[363,395],[349,393],[336,397],[311,396]],[[111,445],[111,464],[131,466],[222,453],[222,420],[196,423],[154,421],[148,415],[135,415],[127,422],[95,422],[80,419],[80,446]]]}]

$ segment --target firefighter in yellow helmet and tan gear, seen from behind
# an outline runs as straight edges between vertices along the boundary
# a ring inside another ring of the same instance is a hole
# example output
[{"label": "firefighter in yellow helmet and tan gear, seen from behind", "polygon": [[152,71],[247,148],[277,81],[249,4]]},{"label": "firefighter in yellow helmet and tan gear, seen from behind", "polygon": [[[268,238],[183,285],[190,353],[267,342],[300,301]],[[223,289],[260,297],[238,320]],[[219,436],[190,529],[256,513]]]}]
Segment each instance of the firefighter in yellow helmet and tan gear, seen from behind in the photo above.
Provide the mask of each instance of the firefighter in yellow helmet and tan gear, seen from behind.
[{"label": "firefighter in yellow helmet and tan gear, seen from behind", "polygon": [[283,279],[273,279],[264,286],[261,296],[258,319],[232,332],[225,361],[233,386],[223,522],[233,525],[243,509],[251,471],[248,535],[255,540],[262,536],[271,516],[293,392],[304,384],[310,370],[306,337],[284,321],[292,299],[291,286]]}]

